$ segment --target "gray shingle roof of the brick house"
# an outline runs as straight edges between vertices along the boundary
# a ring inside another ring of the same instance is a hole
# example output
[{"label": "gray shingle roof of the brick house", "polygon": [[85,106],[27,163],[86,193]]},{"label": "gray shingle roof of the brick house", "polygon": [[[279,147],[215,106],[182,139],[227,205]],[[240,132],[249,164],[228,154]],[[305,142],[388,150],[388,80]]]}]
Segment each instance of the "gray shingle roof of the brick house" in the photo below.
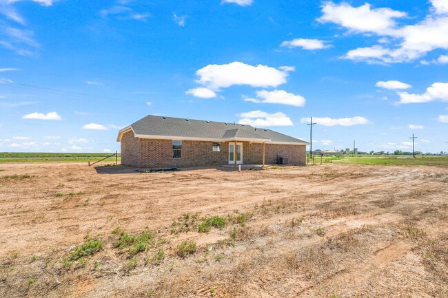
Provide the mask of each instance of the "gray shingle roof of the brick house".
[{"label": "gray shingle roof of the brick house", "polygon": [[[137,136],[176,136],[185,138],[207,138],[215,140],[243,139],[267,142],[296,143],[308,142],[280,134],[271,129],[260,129],[250,125],[223,123],[185,118],[149,115],[130,125]],[[125,130],[125,129],[123,129]],[[123,131],[122,130],[122,131]],[[121,132],[120,131],[120,134]]]}]

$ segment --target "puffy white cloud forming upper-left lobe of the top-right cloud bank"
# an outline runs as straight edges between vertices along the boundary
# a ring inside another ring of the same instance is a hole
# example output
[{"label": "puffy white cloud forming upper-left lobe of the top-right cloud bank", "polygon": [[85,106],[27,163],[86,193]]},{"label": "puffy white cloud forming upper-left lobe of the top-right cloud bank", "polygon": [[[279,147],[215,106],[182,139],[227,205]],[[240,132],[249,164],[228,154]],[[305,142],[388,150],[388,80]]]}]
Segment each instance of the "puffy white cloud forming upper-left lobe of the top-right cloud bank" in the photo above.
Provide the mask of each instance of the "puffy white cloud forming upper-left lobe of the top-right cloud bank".
[{"label": "puffy white cloud forming upper-left lobe of the top-right cloud bank", "polygon": [[386,33],[396,26],[394,19],[406,17],[405,12],[390,8],[373,8],[369,3],[354,8],[347,2],[335,4],[325,2],[322,7],[321,23],[336,23],[353,32]]}]

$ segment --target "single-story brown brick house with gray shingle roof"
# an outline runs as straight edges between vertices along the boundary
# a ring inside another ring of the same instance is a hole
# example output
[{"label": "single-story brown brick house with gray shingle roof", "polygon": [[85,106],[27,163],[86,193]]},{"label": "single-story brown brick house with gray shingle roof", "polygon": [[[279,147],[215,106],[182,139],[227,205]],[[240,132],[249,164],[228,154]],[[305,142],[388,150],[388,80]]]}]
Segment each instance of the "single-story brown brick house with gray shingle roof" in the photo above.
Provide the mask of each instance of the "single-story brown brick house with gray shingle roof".
[{"label": "single-story brown brick house with gray shingle roof", "polygon": [[142,168],[305,165],[309,144],[250,125],[152,115],[121,129],[117,141],[121,164]]}]

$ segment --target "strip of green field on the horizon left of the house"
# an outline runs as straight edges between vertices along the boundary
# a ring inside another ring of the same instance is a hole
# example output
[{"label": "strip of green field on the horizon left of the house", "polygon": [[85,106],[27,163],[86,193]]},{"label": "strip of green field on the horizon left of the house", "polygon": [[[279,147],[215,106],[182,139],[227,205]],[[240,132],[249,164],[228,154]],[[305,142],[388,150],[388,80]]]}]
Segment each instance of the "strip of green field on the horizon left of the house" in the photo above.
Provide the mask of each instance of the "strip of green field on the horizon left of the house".
[{"label": "strip of green field on the horizon left of the house", "polygon": [[[0,152],[0,163],[4,162],[95,162],[113,153],[48,153],[48,152]],[[118,154],[120,160],[120,153]],[[115,162],[115,156],[103,160]]]}]

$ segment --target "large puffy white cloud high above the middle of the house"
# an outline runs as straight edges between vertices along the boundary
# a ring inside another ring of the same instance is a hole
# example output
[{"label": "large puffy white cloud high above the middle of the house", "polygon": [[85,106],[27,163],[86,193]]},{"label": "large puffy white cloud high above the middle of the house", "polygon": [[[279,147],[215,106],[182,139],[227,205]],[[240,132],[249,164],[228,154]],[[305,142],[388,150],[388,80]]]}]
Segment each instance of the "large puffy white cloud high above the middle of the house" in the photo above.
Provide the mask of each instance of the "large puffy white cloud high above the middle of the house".
[{"label": "large puffy white cloud high above the middle of the house", "polygon": [[218,90],[232,85],[250,85],[252,87],[277,87],[286,83],[288,71],[278,70],[267,65],[248,65],[238,61],[216,65],[207,65],[196,72],[197,83],[208,89]]}]

